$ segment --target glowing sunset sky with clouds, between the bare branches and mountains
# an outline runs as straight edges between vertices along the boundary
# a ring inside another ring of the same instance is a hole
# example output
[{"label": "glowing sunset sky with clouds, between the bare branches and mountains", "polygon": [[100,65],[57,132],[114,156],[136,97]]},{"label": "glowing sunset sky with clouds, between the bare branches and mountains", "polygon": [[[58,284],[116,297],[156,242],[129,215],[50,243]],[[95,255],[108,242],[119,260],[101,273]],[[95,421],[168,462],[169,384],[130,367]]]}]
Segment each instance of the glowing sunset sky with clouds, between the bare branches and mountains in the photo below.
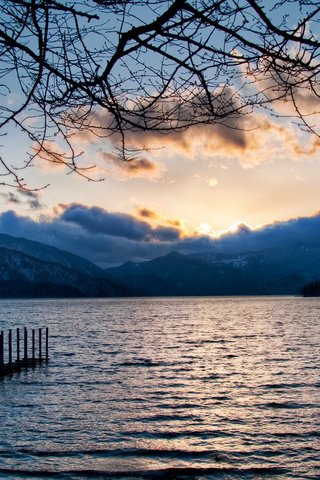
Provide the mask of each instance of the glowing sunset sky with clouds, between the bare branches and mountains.
[{"label": "glowing sunset sky with clouds, between the bare branches and mountains", "polygon": [[[301,97],[306,112],[314,109],[312,96]],[[284,106],[276,105],[276,112],[284,113]],[[1,187],[0,233],[48,243],[103,267],[174,250],[318,241],[319,138],[267,111],[237,122],[235,129],[203,125],[168,135],[132,134],[132,147],[148,148],[130,163],[110,154],[115,139],[81,132],[74,140],[85,152],[83,162],[96,165],[91,176],[103,180],[35,161],[23,172],[27,183],[50,185],[30,192]],[[11,130],[3,143],[1,155],[23,161],[28,145],[19,131]]]}]

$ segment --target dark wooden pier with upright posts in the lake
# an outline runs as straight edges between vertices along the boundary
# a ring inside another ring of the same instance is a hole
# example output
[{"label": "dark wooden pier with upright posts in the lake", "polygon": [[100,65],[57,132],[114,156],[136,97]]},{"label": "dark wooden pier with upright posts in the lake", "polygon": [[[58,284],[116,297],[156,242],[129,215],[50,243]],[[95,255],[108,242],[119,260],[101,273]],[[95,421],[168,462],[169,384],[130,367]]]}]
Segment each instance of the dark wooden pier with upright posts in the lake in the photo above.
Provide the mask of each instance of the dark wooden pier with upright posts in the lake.
[{"label": "dark wooden pier with upright posts in the lake", "polygon": [[48,327],[33,328],[31,332],[25,327],[23,336],[19,328],[15,330],[15,335],[13,333],[10,329],[6,342],[4,332],[0,332],[0,378],[49,360]]}]

